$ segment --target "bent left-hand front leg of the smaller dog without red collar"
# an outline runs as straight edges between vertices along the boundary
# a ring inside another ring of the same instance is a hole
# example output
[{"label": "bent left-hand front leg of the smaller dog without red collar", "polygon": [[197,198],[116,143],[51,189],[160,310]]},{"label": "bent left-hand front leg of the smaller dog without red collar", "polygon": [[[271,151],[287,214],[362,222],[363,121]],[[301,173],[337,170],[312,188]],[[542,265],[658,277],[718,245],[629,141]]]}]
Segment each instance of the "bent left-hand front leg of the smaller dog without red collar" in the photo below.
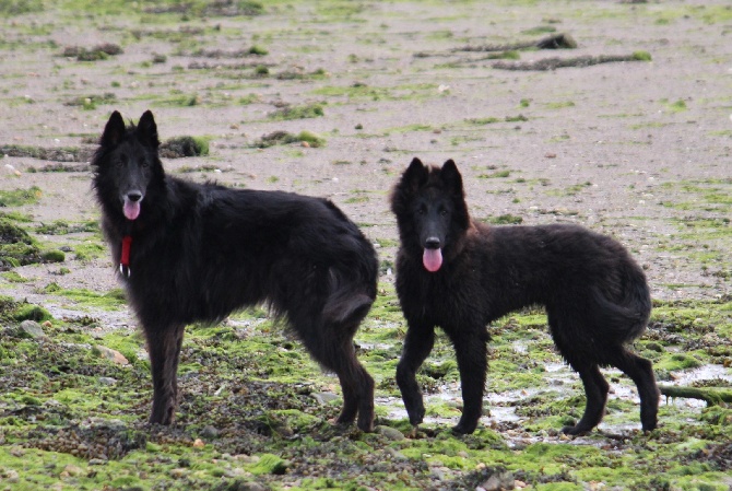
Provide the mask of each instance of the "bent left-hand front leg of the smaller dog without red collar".
[{"label": "bent left-hand front leg of the smaller dog without red collar", "polygon": [[417,384],[416,372],[424,363],[435,344],[434,326],[425,327],[409,322],[402,358],[397,365],[397,385],[402,393],[410,423],[415,426],[425,416],[422,390]]}]

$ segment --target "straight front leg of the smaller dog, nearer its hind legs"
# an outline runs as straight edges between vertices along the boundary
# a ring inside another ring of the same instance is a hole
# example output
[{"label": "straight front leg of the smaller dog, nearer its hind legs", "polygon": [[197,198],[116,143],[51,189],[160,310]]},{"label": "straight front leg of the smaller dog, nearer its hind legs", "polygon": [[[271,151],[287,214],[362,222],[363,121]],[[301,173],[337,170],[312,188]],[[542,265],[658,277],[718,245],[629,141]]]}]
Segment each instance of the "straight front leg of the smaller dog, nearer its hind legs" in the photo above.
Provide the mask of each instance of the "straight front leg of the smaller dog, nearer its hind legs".
[{"label": "straight front leg of the smaller dog, nearer its hind legs", "polygon": [[462,416],[452,431],[469,434],[475,431],[483,414],[485,372],[488,367],[487,332],[480,327],[446,331],[454,346],[462,388]]}]

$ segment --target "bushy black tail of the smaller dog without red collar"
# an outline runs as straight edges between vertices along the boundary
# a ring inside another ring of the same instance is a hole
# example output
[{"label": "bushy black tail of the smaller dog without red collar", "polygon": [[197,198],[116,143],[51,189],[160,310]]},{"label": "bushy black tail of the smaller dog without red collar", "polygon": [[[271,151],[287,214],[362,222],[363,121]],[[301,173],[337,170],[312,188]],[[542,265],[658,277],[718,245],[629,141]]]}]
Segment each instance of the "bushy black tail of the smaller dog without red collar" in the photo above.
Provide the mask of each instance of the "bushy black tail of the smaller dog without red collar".
[{"label": "bushy black tail of the smaller dog without red collar", "polygon": [[[635,265],[634,265],[635,266]],[[617,301],[609,299],[600,289],[591,288],[591,295],[599,308],[595,323],[603,332],[612,336],[613,342],[630,342],[646,330],[651,313],[651,296],[646,276],[638,267],[624,274],[623,294]]]}]

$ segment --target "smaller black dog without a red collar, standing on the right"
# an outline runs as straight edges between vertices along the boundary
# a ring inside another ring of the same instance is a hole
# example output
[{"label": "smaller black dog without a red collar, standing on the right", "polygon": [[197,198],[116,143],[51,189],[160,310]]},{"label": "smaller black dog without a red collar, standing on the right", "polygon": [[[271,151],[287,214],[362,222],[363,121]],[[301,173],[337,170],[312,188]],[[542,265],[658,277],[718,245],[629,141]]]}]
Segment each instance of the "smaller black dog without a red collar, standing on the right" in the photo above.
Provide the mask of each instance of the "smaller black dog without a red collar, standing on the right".
[{"label": "smaller black dog without a red collar, standing on the right", "polygon": [[600,423],[615,366],[638,386],[644,430],[657,425],[659,391],[648,360],[625,344],[640,336],[651,309],[646,277],[613,238],[569,224],[486,226],[471,220],[462,177],[414,159],[391,195],[401,247],[397,293],[409,329],[397,382],[412,424],[424,418],[415,372],[429,354],[435,327],[458,358],[463,412],[454,426],[472,433],[485,386],[486,325],[518,308],[546,307],[554,342],[585,384],[585,414],[565,433]]}]

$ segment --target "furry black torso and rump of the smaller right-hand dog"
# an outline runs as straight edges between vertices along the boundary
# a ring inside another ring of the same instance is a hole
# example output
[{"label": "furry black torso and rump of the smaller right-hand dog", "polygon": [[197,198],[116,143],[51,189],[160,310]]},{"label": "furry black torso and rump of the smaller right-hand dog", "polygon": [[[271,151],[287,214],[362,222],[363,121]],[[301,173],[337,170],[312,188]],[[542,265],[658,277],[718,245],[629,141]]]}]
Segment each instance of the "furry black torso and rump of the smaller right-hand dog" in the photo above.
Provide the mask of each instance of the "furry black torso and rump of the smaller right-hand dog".
[{"label": "furry black torso and rump of the smaller right-hand dog", "polygon": [[477,227],[470,257],[485,292],[501,299],[496,318],[531,304],[550,315],[576,305],[572,315],[595,336],[629,342],[642,334],[651,309],[646,276],[614,238],[574,224]]}]

